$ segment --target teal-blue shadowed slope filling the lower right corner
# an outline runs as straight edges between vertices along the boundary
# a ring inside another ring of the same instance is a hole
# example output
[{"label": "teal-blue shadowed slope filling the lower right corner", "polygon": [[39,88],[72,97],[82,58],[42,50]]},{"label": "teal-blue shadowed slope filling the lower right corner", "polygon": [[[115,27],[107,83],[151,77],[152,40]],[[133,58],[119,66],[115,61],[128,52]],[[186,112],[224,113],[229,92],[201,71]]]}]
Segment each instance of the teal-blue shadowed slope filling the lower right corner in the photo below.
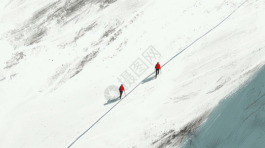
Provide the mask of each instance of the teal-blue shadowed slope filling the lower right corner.
[{"label": "teal-blue shadowed slope filling the lower right corner", "polygon": [[265,66],[221,101],[181,148],[265,148]]}]

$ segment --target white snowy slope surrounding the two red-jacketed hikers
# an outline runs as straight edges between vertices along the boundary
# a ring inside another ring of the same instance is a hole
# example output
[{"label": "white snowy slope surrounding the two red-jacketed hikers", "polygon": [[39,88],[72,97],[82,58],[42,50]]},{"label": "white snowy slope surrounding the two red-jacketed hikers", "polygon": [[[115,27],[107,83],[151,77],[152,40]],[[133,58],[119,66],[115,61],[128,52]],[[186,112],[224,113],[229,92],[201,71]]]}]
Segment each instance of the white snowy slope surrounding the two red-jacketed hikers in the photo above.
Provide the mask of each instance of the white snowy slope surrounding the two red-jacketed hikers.
[{"label": "white snowy slope surrounding the two red-jacketed hikers", "polygon": [[[0,148],[161,148],[265,65],[264,0],[0,7]],[[145,59],[150,45],[160,55]],[[125,72],[127,97],[107,101]]]}]

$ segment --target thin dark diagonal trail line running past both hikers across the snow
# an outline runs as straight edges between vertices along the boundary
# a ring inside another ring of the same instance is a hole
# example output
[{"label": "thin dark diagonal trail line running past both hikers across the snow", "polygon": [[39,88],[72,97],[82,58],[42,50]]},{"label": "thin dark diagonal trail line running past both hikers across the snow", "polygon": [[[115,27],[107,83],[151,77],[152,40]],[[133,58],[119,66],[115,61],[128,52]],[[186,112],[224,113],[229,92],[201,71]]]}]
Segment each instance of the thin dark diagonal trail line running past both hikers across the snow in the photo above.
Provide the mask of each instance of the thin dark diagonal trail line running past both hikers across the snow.
[{"label": "thin dark diagonal trail line running past both hikers across the snow", "polygon": [[[169,63],[172,59],[174,59],[177,55],[179,55],[181,52],[183,52],[185,49],[187,49],[189,46],[191,46],[193,43],[195,43],[197,40],[199,40],[200,38],[204,37],[205,35],[207,35],[209,32],[211,32],[212,30],[214,30],[216,27],[218,27],[223,21],[225,21],[230,15],[232,15],[239,7],[241,7],[245,2],[247,2],[248,0],[245,0],[242,4],[240,4],[233,12],[231,12],[226,18],[224,18],[219,24],[217,24],[214,28],[212,28],[211,30],[209,30],[207,33],[205,33],[204,35],[202,35],[201,37],[197,38],[195,41],[193,41],[191,44],[189,44],[186,48],[184,48],[183,50],[181,50],[179,53],[177,53],[174,57],[172,57],[168,62],[166,62],[162,67],[164,67],[167,63]],[[162,68],[161,67],[161,68]],[[139,86],[145,79],[147,79],[149,76],[151,76],[152,74],[154,74],[155,72],[149,74],[147,77],[145,77],[138,85],[136,85],[133,90]],[[127,96],[133,91],[131,90]],[[125,97],[123,97],[119,102],[117,102],[109,111],[111,111],[115,106],[117,106]],[[105,114],[103,114],[94,124],[92,124],[83,134],[81,134],[78,138],[76,138],[76,140],[74,140],[67,148],[70,148],[79,138],[81,138],[84,134],[86,134],[88,132],[89,129],[91,129],[100,119],[102,119],[109,111],[107,111]]]}]

